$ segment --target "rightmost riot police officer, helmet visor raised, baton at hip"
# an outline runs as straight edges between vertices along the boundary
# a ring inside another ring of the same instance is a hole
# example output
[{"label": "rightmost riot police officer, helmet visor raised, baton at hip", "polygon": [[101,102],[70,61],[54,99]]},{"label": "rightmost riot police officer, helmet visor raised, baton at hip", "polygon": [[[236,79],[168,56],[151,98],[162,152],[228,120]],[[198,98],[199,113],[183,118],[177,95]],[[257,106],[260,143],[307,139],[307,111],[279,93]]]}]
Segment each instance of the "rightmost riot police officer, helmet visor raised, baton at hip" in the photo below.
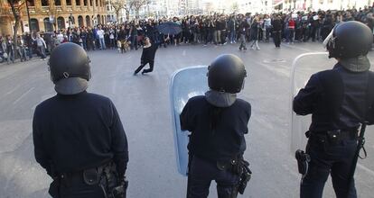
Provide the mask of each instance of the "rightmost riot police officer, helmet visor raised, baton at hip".
[{"label": "rightmost riot police officer, helmet visor raised, baton at hip", "polygon": [[329,57],[338,62],[332,69],[311,76],[295,96],[294,111],[312,114],[306,132],[310,162],[302,179],[302,198],[322,197],[330,174],[338,198],[357,197],[350,173],[360,123],[370,121],[373,114],[374,74],[366,57],[372,41],[372,31],[363,23],[337,25],[324,44]]}]

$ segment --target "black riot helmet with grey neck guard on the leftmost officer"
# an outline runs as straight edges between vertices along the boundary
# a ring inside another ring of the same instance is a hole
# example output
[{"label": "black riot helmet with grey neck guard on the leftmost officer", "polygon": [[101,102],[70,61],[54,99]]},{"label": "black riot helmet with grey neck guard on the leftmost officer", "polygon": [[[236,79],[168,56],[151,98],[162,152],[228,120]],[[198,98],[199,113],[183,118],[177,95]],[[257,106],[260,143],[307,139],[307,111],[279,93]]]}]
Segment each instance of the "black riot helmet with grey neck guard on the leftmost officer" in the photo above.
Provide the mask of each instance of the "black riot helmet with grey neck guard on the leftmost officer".
[{"label": "black riot helmet with grey neck guard on the leftmost officer", "polygon": [[88,87],[91,77],[89,56],[75,43],[62,43],[51,51],[48,65],[51,81],[59,94],[78,94]]}]

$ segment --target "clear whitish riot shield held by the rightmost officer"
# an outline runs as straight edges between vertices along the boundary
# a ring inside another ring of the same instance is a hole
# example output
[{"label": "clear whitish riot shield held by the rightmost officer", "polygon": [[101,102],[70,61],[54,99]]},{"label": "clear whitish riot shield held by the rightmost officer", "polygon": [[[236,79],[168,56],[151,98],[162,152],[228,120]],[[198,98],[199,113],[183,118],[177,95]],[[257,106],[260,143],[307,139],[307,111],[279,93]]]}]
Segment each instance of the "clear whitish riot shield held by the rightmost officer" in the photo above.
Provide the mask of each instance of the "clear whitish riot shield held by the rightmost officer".
[{"label": "clear whitish riot shield held by the rightmost officer", "polygon": [[291,68],[291,97],[290,97],[290,116],[289,127],[291,130],[291,152],[295,155],[295,150],[305,148],[306,137],[304,133],[309,130],[312,116],[296,115],[292,108],[292,102],[300,89],[304,88],[310,76],[319,71],[331,69],[335,64],[334,58],[328,58],[327,52],[305,53],[295,58]]}]

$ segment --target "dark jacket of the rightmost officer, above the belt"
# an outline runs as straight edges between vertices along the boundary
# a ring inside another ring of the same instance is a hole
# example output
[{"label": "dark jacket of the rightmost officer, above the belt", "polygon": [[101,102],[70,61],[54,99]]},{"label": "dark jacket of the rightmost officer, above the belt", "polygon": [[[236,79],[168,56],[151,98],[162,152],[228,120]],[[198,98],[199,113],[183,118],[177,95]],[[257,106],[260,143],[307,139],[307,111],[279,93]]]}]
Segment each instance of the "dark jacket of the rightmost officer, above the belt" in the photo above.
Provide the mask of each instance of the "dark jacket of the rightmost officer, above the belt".
[{"label": "dark jacket of the rightmost officer, above the belt", "polygon": [[318,72],[295,96],[294,111],[312,114],[311,131],[349,130],[374,114],[374,73],[351,72],[339,63]]}]

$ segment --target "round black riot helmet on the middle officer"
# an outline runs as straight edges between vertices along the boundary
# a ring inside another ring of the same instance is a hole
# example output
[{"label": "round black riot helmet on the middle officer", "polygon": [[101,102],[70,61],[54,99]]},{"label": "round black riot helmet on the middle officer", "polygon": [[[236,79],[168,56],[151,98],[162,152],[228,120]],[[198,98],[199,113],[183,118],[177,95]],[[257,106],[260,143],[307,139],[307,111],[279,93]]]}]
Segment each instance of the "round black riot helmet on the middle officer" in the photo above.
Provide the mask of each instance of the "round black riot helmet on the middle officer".
[{"label": "round black riot helmet on the middle officer", "polygon": [[239,93],[246,76],[247,71],[243,61],[233,54],[220,55],[208,67],[210,89],[224,93]]}]

